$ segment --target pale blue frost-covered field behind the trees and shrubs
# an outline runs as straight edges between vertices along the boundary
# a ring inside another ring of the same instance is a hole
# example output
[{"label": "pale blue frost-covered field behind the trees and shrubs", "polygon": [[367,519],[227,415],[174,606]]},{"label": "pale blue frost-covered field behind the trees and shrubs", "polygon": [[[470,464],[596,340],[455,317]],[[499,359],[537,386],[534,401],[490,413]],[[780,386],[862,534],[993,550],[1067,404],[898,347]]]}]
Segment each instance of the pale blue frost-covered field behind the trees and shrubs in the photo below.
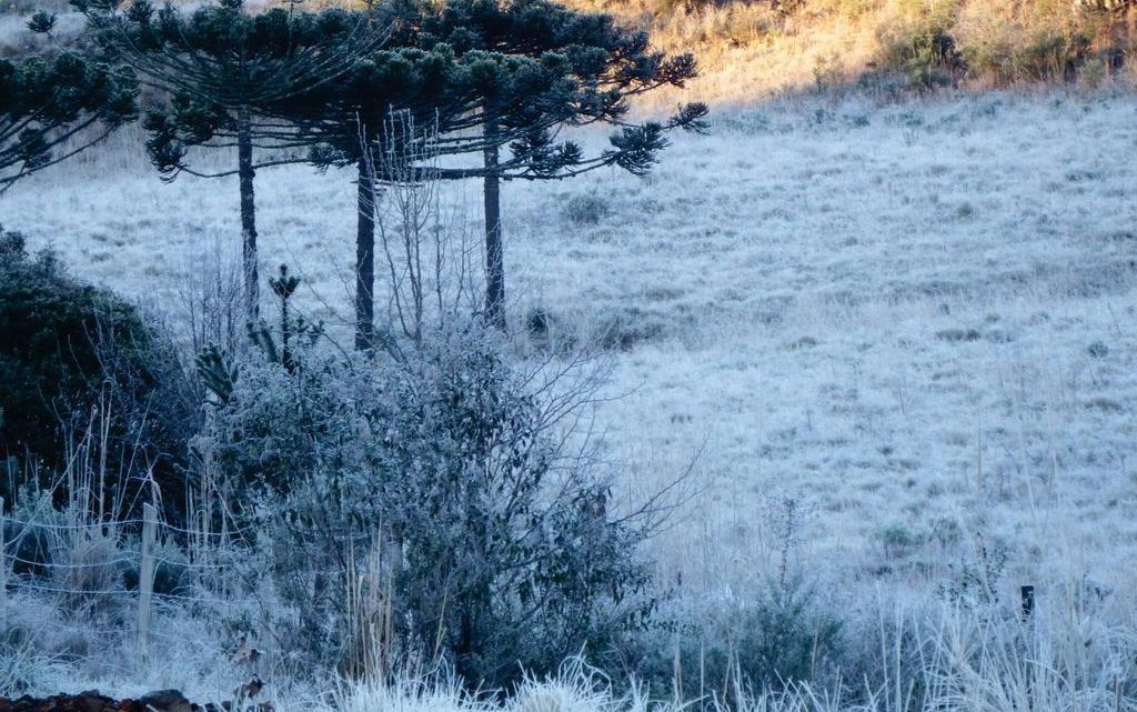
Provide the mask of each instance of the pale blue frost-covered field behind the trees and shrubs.
[{"label": "pale blue frost-covered field behind the trees and shrubs", "polygon": [[[698,492],[654,544],[665,574],[738,590],[789,538],[832,580],[930,591],[994,552],[1009,590],[1130,585],[1135,111],[799,98],[717,109],[647,179],[507,184],[518,328],[540,309],[623,346],[597,411],[623,485],[650,491],[698,454]],[[18,184],[0,215],[176,313],[201,256],[238,240],[235,180],[165,185],[138,138]],[[257,191],[264,264],[346,323],[351,176],[264,171]],[[478,185],[447,206],[473,239]]]}]

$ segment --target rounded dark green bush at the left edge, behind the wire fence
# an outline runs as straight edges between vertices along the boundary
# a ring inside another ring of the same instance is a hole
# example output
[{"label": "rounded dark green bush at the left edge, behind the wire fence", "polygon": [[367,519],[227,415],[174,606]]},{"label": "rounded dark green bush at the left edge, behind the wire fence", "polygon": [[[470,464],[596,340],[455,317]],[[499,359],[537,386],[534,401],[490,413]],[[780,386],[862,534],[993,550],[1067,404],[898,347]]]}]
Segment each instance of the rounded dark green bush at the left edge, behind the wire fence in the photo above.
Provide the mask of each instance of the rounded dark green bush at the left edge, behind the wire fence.
[{"label": "rounded dark green bush at the left edge, behind the wire fence", "polygon": [[[20,234],[0,229],[0,457],[63,472],[69,447],[91,436],[114,502],[149,500],[139,494],[152,473],[176,511],[194,403],[172,345],[133,306],[70,278],[50,252],[28,256]],[[2,477],[0,491],[11,491]]]}]

